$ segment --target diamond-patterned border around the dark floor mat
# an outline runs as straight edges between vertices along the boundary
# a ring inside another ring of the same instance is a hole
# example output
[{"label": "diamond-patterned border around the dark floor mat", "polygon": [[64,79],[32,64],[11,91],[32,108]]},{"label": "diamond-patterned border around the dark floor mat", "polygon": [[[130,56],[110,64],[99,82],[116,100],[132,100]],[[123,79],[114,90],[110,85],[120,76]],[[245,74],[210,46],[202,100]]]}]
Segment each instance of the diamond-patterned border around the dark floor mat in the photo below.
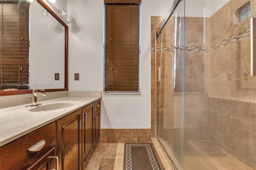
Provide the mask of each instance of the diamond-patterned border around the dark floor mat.
[{"label": "diamond-patterned border around the dark floor mat", "polygon": [[142,143],[142,144],[136,144],[136,143],[127,143],[125,154],[126,154],[126,160],[125,160],[125,170],[132,170],[132,154],[131,154],[131,147],[136,146],[145,146],[146,150],[148,152],[148,157],[150,159],[150,163],[153,170],[161,170],[161,168],[158,166],[158,163],[156,162],[156,158],[154,156],[154,153],[152,152],[152,148],[149,143]]}]

